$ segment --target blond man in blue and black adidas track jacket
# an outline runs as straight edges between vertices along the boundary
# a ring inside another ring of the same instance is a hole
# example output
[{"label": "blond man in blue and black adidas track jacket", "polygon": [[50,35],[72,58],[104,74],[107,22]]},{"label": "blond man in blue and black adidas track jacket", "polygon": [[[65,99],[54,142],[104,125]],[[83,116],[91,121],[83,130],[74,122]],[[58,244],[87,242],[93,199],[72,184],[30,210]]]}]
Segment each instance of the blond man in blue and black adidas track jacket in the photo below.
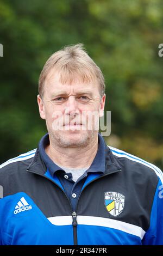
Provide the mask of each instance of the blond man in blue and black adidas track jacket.
[{"label": "blond man in blue and black adidas track jacket", "polygon": [[1,244],[163,244],[162,172],[98,134],[104,78],[81,44],[47,60],[37,102],[48,134],[1,165]]}]

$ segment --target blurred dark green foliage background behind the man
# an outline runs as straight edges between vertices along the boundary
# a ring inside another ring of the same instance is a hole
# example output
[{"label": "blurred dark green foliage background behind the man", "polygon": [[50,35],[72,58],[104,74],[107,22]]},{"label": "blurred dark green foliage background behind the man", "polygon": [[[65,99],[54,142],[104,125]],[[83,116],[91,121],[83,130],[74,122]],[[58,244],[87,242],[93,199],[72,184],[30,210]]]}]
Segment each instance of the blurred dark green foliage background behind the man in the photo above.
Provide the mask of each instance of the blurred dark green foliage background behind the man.
[{"label": "blurred dark green foliage background behind the man", "polygon": [[0,162],[37,147],[46,132],[41,69],[53,52],[83,42],[105,77],[105,141],[162,168],[162,29],[162,0],[0,0]]}]

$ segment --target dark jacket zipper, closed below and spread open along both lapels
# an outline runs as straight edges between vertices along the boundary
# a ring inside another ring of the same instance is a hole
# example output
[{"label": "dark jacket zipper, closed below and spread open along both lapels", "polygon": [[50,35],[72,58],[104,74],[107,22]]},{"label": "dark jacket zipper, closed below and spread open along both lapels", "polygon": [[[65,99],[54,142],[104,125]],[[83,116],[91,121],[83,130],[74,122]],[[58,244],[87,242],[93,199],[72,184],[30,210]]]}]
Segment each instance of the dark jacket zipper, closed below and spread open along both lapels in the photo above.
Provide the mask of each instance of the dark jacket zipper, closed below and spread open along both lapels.
[{"label": "dark jacket zipper, closed below and spread open along both lapels", "polygon": [[[117,173],[117,172],[119,172],[119,171],[121,171],[121,169],[117,169],[116,171],[114,171],[114,172],[112,172],[112,173]],[[42,176],[43,178],[46,178],[47,180],[52,181],[55,185],[57,185],[57,186],[60,188],[60,190],[61,190],[62,192],[64,192],[64,194],[65,194],[65,196],[66,196],[68,202],[70,203],[70,200],[68,199],[68,197],[67,197],[65,191],[62,190],[62,188],[61,188],[57,183],[55,183],[53,180],[49,179],[49,178],[46,177],[45,175],[42,175],[42,174],[40,174],[40,173],[33,172],[33,171],[29,170],[29,169],[27,169],[27,172],[40,175],[40,176]],[[109,173],[109,174],[112,174],[112,173]],[[107,175],[109,175],[109,174],[105,174],[105,175],[103,175],[103,176],[98,176],[96,179],[91,180],[89,183],[87,183],[86,186],[83,188],[83,190],[80,192],[79,198],[80,198],[82,192],[85,190],[85,188],[86,188],[88,185],[90,185],[93,181],[98,180],[98,179],[100,179],[100,178],[103,178],[104,176],[107,176]],[[78,202],[79,202],[79,198],[78,198]],[[78,209],[78,202],[77,202],[76,211],[77,211],[77,209]],[[74,242],[74,245],[78,245],[78,239],[77,239],[77,225],[78,225],[78,222],[77,222],[77,212],[76,212],[76,211],[73,211],[71,204],[70,204],[70,208],[71,208],[71,210],[72,210],[73,242]]]}]

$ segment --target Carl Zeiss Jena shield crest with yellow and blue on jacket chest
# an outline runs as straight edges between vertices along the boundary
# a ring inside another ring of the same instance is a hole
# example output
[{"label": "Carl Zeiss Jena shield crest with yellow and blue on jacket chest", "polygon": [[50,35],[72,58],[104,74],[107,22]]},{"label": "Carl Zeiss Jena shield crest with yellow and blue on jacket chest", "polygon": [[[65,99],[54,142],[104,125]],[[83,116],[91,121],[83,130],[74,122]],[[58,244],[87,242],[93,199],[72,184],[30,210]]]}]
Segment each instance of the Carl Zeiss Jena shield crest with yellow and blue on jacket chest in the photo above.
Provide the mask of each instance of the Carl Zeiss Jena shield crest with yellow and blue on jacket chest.
[{"label": "Carl Zeiss Jena shield crest with yellow and blue on jacket chest", "polygon": [[117,192],[105,192],[105,207],[109,214],[118,216],[124,208],[125,196]]}]

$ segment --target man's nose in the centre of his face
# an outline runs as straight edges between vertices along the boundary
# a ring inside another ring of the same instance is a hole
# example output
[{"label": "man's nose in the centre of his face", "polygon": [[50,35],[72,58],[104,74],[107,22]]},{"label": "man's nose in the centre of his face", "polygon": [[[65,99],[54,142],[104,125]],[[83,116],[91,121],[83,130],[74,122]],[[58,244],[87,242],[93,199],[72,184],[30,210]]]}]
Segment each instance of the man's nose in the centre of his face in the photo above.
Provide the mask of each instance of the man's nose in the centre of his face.
[{"label": "man's nose in the centre of his face", "polygon": [[76,97],[69,96],[65,106],[65,113],[71,115],[72,117],[78,113],[78,102]]}]

